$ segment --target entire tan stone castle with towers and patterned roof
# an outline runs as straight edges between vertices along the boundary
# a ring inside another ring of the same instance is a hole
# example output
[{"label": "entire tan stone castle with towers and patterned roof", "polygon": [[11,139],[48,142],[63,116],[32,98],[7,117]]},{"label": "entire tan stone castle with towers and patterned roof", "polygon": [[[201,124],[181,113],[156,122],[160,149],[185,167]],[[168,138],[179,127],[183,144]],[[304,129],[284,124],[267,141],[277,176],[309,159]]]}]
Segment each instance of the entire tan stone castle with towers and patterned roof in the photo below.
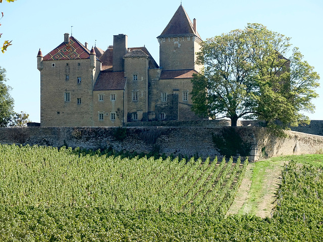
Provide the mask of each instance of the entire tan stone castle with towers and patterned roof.
[{"label": "entire tan stone castle with towers and patterned roof", "polygon": [[43,127],[125,126],[149,120],[196,119],[192,74],[201,37],[181,5],[157,37],[159,65],[146,47],[128,47],[114,35],[105,51],[88,49],[68,33],[42,55],[39,49],[40,123]]}]

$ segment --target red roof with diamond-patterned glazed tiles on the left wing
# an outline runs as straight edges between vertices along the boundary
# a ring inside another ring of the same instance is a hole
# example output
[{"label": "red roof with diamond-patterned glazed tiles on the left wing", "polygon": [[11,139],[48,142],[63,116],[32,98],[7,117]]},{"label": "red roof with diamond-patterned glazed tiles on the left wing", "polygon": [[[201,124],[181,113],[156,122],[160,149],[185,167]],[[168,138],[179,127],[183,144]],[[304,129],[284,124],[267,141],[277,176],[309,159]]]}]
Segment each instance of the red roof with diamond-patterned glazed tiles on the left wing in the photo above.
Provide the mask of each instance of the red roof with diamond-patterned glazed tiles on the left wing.
[{"label": "red roof with diamond-patterned glazed tiles on the left wing", "polygon": [[68,59],[87,59],[90,51],[73,36],[68,43],[61,43],[43,57],[43,61],[61,61]]}]

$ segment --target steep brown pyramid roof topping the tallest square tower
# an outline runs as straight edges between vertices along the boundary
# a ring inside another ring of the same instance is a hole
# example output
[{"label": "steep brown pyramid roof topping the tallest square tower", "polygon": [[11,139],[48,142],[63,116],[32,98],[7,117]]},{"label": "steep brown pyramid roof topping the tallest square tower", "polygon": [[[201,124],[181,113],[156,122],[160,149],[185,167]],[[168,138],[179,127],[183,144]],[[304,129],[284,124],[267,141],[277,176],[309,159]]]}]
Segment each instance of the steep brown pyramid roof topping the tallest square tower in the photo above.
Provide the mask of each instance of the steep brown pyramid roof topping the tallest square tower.
[{"label": "steep brown pyramid roof topping the tallest square tower", "polygon": [[194,30],[193,23],[182,5],[180,5],[171,21],[157,38],[177,36],[197,36],[201,39],[197,31]]}]

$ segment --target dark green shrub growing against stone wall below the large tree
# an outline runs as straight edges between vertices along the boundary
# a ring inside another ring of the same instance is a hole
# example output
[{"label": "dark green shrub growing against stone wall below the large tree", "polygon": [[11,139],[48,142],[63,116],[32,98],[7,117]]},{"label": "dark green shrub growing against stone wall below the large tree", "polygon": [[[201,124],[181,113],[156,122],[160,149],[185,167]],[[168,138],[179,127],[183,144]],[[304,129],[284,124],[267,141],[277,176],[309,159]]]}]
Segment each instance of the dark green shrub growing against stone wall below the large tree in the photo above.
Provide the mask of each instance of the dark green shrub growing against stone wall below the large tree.
[{"label": "dark green shrub growing against stone wall below the large tree", "polygon": [[220,134],[212,134],[212,141],[214,147],[227,157],[250,155],[251,143],[244,142],[234,128],[222,129]]}]

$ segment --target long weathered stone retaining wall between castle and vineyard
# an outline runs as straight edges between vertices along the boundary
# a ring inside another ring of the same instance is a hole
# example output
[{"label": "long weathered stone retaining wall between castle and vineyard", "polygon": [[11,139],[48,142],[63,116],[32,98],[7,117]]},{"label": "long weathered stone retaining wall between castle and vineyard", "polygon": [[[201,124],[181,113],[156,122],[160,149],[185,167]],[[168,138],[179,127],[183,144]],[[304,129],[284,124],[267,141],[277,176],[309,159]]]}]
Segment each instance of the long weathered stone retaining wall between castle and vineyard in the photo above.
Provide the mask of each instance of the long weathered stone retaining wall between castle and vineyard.
[{"label": "long weathered stone retaining wall between castle and vineyard", "polygon": [[[125,131],[125,132],[124,132]],[[125,135],[123,135],[125,134]],[[113,148],[118,151],[167,155],[245,156],[250,160],[289,154],[315,154],[323,150],[323,137],[287,132],[277,138],[258,127],[29,127],[0,128],[0,143]]]}]

